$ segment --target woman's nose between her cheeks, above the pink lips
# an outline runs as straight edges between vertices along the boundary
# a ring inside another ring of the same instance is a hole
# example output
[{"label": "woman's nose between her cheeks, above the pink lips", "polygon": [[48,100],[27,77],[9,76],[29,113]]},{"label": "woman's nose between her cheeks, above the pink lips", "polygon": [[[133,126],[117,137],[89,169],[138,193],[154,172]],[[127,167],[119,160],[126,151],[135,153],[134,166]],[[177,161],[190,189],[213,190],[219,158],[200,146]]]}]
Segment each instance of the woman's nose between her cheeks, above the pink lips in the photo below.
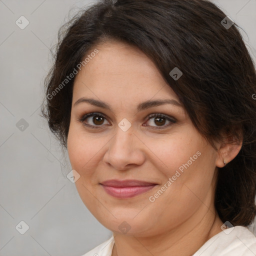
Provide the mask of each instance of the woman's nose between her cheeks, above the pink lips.
[{"label": "woman's nose between her cheeks, above the pink lips", "polygon": [[143,144],[133,134],[130,127],[127,131],[117,127],[115,136],[109,141],[103,161],[118,170],[126,170],[145,161]]}]

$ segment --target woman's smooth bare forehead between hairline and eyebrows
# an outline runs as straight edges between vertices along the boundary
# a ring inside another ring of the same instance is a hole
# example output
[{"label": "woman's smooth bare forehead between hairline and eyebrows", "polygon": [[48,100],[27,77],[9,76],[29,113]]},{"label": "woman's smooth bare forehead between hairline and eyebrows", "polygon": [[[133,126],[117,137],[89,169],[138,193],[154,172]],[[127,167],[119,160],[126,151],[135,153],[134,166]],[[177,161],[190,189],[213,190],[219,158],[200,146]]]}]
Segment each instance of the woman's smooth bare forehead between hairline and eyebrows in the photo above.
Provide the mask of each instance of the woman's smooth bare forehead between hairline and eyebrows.
[{"label": "woman's smooth bare forehead between hairline and eyebrows", "polygon": [[130,104],[153,97],[178,100],[152,60],[137,47],[115,41],[94,48],[98,53],[75,77],[73,100],[87,94],[108,101],[118,97]]}]

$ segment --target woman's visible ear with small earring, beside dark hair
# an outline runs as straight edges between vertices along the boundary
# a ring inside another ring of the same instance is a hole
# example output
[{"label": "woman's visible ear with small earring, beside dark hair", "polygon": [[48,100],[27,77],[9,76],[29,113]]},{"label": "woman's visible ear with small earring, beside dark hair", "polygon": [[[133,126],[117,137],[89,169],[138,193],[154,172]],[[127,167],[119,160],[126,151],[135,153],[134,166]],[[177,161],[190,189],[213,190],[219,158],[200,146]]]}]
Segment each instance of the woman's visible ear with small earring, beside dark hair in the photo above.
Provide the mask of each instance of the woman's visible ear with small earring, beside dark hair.
[{"label": "woman's visible ear with small earring, beside dark hair", "polygon": [[230,162],[240,151],[242,147],[242,139],[234,138],[228,135],[223,142],[217,144],[217,156],[215,164],[217,167],[224,167],[225,163]]}]

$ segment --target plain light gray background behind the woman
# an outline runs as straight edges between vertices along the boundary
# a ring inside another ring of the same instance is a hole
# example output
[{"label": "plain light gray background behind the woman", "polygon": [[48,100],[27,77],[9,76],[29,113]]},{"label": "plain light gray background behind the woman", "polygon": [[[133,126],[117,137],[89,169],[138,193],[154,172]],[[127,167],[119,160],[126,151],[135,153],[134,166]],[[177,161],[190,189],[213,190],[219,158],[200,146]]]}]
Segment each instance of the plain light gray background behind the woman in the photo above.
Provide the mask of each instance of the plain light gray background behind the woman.
[{"label": "plain light gray background behind the woman", "polygon": [[[58,28],[68,20],[70,9],[72,16],[92,2],[0,0],[1,256],[79,256],[111,235],[65,177],[71,170],[67,154],[62,155],[39,116],[43,78],[52,64],[49,49]],[[244,29],[256,61],[256,0],[214,2]],[[29,21],[24,29],[15,23],[21,15]],[[15,229],[21,220],[29,226],[23,235]]]}]

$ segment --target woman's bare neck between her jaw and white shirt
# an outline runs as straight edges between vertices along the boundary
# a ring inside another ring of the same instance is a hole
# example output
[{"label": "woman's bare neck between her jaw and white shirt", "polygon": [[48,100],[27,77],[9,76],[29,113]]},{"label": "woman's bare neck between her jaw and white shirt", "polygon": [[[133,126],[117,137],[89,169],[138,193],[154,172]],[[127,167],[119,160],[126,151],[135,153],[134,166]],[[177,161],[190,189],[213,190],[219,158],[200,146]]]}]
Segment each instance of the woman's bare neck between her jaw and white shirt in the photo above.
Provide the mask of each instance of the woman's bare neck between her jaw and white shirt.
[{"label": "woman's bare neck between her jaw and white shirt", "polygon": [[113,232],[115,243],[111,256],[191,256],[221,231],[222,221],[214,208],[205,210],[204,204],[202,208],[204,215],[201,218],[197,212],[181,225],[162,234],[136,237]]}]

